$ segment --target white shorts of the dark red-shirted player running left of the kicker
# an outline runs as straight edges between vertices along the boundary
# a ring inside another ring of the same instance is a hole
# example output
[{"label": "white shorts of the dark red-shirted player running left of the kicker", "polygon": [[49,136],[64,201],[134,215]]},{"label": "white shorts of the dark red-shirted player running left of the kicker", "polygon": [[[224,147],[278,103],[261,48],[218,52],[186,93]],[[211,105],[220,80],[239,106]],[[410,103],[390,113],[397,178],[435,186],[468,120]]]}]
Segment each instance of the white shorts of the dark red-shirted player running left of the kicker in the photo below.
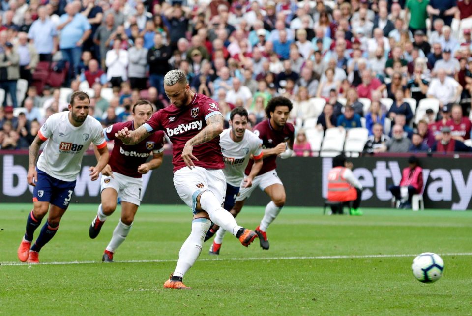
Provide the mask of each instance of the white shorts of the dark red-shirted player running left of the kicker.
[{"label": "white shorts of the dark red-shirted player running left of the kicker", "polygon": [[113,172],[114,178],[111,176],[102,176],[100,180],[100,192],[106,188],[113,188],[118,193],[121,201],[141,204],[141,188],[143,187],[142,178],[133,178],[118,172]]}]

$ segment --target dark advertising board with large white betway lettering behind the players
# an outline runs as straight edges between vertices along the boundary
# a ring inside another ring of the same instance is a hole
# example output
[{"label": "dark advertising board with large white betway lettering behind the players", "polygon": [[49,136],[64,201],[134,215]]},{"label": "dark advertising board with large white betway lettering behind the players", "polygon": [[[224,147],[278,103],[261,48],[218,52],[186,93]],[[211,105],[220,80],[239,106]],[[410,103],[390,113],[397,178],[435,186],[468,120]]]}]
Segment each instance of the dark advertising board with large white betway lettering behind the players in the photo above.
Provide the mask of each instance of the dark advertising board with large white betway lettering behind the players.
[{"label": "dark advertising board with large white betway lettering behind the players", "polygon": [[[12,154],[14,153],[14,154]],[[317,206],[324,203],[327,173],[332,158],[294,157],[277,161],[277,173],[287,191],[287,205]],[[351,158],[354,174],[362,183],[364,207],[390,207],[388,186],[399,183],[401,171],[407,166],[408,157]],[[182,204],[172,179],[172,158],[164,157],[161,168],[149,172],[143,181],[143,203]],[[425,208],[452,210],[471,209],[472,175],[470,159],[453,157],[420,158],[425,179]],[[86,155],[82,164],[72,202],[98,203],[100,181],[90,181],[88,168],[96,164],[92,155]],[[28,155],[0,151],[0,202],[30,202],[32,187],[27,184]],[[265,205],[267,196],[255,190],[248,205]]]}]

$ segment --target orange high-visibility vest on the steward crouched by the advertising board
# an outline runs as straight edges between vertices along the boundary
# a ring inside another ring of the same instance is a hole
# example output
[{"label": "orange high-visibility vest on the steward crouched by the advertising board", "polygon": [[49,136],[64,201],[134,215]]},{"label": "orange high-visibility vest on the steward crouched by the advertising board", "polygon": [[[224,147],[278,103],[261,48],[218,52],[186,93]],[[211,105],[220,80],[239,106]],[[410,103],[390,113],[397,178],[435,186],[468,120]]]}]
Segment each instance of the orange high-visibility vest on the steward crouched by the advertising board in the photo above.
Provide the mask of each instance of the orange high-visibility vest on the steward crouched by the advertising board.
[{"label": "orange high-visibility vest on the steward crouched by the advertising board", "polygon": [[328,200],[335,202],[354,201],[357,191],[344,178],[345,167],[335,167],[328,173]]}]

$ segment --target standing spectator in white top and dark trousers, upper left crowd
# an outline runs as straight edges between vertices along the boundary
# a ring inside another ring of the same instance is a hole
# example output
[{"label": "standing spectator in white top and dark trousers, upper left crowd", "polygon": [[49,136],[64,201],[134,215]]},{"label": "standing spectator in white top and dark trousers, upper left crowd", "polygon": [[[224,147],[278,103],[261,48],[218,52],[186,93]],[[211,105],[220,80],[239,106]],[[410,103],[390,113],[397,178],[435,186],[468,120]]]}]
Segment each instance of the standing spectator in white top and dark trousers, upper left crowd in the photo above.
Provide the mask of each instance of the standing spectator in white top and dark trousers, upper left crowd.
[{"label": "standing spectator in white top and dark trousers, upper left crowd", "polygon": [[121,49],[121,39],[113,41],[113,49],[107,52],[105,65],[108,67],[107,80],[113,87],[121,86],[128,79],[126,67],[128,66],[128,52]]}]

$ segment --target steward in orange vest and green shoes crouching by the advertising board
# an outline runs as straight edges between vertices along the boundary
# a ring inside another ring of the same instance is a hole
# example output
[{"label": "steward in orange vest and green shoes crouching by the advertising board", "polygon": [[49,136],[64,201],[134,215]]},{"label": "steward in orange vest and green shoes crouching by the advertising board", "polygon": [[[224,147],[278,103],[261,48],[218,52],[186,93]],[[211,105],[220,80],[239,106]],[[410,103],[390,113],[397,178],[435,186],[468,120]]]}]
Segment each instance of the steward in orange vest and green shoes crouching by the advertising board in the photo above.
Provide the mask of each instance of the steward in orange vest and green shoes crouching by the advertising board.
[{"label": "steward in orange vest and green shoes crouching by the advertising board", "polygon": [[[359,209],[362,185],[359,180],[354,177],[352,172],[353,164],[346,161],[344,155],[338,155],[333,158],[333,169],[328,173],[328,201],[351,203],[349,213],[351,215],[362,215]],[[335,206],[331,209],[333,213],[337,213]],[[342,208],[340,210],[342,213]]]}]

